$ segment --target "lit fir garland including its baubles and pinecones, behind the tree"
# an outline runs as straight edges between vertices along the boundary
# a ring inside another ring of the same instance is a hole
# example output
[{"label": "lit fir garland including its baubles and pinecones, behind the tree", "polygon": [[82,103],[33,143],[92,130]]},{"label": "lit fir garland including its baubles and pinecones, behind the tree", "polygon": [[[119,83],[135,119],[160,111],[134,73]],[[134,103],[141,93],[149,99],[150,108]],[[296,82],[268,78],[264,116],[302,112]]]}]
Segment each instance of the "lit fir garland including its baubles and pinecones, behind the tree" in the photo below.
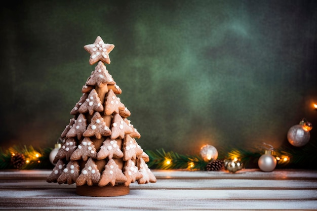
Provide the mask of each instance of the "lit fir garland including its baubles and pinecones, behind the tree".
[{"label": "lit fir garland including its baubles and pinecones, behind the tree", "polygon": [[[313,104],[313,108],[317,111],[317,104]],[[259,167],[266,172],[273,171],[275,167],[316,168],[314,163],[317,162],[317,153],[315,153],[317,145],[315,140],[309,141],[310,130],[312,130],[312,124],[303,118],[288,131],[287,138],[290,144],[278,149],[262,143],[259,149],[233,148],[228,152],[223,150],[218,152],[214,146],[206,144],[201,147],[200,154],[195,155],[166,152],[164,149],[145,150],[150,159],[147,165],[161,170],[225,170],[230,173],[248,166]],[[61,142],[60,139],[54,149],[50,147],[35,149],[33,146],[12,146],[7,150],[0,148],[0,169],[51,169],[54,166],[52,160],[61,148],[59,142]]]}]

